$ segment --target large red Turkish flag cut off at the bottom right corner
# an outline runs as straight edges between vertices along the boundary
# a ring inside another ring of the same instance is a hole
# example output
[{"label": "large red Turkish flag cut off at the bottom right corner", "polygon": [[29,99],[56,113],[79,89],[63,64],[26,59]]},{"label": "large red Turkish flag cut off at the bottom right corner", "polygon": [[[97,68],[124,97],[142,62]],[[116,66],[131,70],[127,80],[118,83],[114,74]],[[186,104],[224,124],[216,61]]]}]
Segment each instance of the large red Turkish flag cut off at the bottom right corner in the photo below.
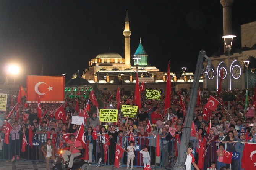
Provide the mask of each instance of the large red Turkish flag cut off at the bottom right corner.
[{"label": "large red Turkish flag cut off at the bottom right corner", "polygon": [[253,170],[256,166],[256,144],[245,143],[242,157],[242,168]]}]

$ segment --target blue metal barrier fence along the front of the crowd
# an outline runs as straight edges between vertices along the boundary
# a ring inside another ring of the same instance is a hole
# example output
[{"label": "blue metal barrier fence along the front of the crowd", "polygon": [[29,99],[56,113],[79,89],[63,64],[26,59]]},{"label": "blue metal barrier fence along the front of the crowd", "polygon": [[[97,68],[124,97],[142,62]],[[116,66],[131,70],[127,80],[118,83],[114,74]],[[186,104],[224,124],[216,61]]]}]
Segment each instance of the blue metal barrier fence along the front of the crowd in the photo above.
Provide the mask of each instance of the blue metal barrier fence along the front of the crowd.
[{"label": "blue metal barrier fence along the front of the crowd", "polygon": [[[2,148],[2,159],[11,159],[12,156],[19,155],[21,159],[26,160],[37,160],[37,161],[44,161],[44,156],[42,155],[41,147],[42,144],[41,138],[42,135],[34,135],[33,138],[33,147],[31,148],[29,146],[29,136],[26,136],[28,145],[26,146],[26,151],[24,153],[21,153],[21,146],[22,146],[22,139],[23,139],[23,133],[19,134],[19,139],[12,140],[11,135],[9,136],[9,144],[3,143]],[[47,135],[47,134],[45,134]],[[99,163],[99,166],[103,165],[109,165],[113,166],[115,161],[115,148],[116,143],[122,143],[122,148],[127,150],[127,146],[129,146],[129,136],[123,136],[122,141],[120,141],[120,136],[110,138],[110,145],[107,146],[107,161],[105,164],[104,161],[104,148],[103,144],[100,144],[100,137],[96,140],[92,140],[92,136],[85,136],[86,141],[89,141],[89,162],[91,161],[91,164],[95,165]],[[134,146],[136,148],[135,150],[135,157],[133,160],[133,167],[143,167],[143,158],[142,154],[139,153],[141,149],[143,149],[144,146],[147,146],[148,152],[150,154],[151,160],[150,165],[156,165],[155,167],[166,167],[171,168],[177,159],[175,157],[176,153],[176,146],[175,146],[175,139],[172,139],[170,141],[166,141],[165,139],[160,139],[160,156],[156,156],[156,138],[153,137],[134,137]],[[60,148],[60,141],[62,141],[62,135],[57,135],[56,140],[56,149]],[[3,141],[2,141],[3,142]],[[90,146],[91,145],[91,146]],[[219,167],[219,162],[217,161],[217,153],[216,151],[219,149],[219,143],[212,142],[209,145],[206,146],[206,156],[204,159],[204,169],[207,169],[211,166],[211,161],[216,162],[217,167]],[[196,159],[196,163],[198,161],[198,153],[195,152],[195,149],[193,151],[194,157]],[[236,154],[239,154],[236,152]],[[235,156],[234,156],[235,157]],[[238,158],[238,159],[237,159]],[[101,162],[100,162],[101,160]],[[122,159],[120,159],[120,166],[127,166],[127,160],[128,160],[128,153],[124,152]],[[86,162],[88,162],[86,160]],[[236,159],[232,159],[232,164],[234,169],[240,169],[240,161],[239,156],[236,157]],[[193,170],[193,166],[191,167]],[[233,168],[232,168],[233,169]]]}]

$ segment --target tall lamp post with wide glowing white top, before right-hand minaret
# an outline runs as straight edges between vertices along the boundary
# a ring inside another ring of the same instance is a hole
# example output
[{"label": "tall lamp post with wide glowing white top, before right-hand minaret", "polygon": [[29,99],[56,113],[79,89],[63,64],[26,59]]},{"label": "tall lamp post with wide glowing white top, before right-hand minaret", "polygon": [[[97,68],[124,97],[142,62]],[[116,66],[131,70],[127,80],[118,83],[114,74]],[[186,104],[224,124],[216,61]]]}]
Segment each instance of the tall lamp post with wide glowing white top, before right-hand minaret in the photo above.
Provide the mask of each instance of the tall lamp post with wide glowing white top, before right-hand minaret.
[{"label": "tall lamp post with wide glowing white top, before right-hand minaret", "polygon": [[[230,51],[231,51],[231,47],[232,47],[232,42],[233,42],[233,38],[235,38],[237,36],[235,35],[225,35],[222,36],[222,38],[224,38],[224,42],[228,51],[228,91],[231,90],[231,77],[230,77]],[[230,111],[230,101],[228,101],[228,111]]]}]

